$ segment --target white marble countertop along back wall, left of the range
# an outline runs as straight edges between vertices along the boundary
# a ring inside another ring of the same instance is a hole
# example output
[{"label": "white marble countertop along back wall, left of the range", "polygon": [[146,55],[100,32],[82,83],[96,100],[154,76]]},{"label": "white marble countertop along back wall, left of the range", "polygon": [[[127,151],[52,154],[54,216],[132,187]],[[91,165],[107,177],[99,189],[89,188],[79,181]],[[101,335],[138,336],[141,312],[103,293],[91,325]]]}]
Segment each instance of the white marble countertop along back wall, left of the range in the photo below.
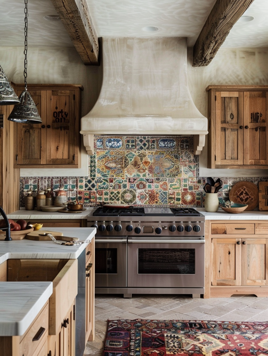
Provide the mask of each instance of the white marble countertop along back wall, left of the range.
[{"label": "white marble countertop along back wall, left of the range", "polygon": [[[45,211],[39,210],[17,210],[13,213],[7,214],[7,217],[12,220],[16,219],[27,219],[27,220],[36,220],[36,219],[86,219],[88,214],[95,208],[86,208],[82,210],[81,213],[61,213],[55,211],[54,213],[47,213]],[[0,216],[0,219],[2,216]]]}]

